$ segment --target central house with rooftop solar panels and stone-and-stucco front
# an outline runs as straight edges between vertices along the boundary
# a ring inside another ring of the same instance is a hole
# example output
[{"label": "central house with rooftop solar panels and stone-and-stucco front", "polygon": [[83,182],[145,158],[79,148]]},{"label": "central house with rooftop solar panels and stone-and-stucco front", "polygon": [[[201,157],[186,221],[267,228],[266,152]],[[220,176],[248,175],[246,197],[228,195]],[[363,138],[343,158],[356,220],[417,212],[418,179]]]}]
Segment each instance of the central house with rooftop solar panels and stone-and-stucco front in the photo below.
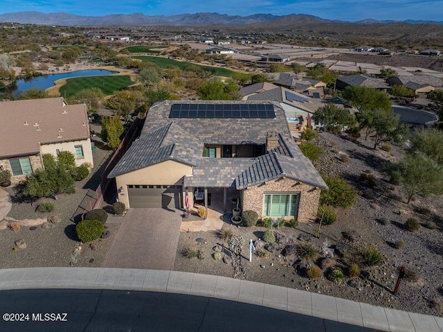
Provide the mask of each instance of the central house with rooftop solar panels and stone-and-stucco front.
[{"label": "central house with rooftop solar panels and stone-and-stucco front", "polygon": [[[108,175],[127,207],[185,208],[239,197],[261,217],[314,220],[327,185],[290,135],[284,110],[262,101],[164,101]],[[200,195],[204,193],[204,195]],[[212,194],[212,197],[211,197]],[[212,202],[208,202],[208,200]]]}]

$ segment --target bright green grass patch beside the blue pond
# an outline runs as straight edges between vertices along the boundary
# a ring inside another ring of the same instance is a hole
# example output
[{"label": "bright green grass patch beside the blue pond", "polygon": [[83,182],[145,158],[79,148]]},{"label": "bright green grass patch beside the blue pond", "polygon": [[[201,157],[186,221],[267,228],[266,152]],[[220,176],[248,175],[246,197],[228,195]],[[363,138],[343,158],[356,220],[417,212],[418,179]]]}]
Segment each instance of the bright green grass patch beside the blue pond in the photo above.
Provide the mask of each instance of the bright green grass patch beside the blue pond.
[{"label": "bright green grass patch beside the blue pond", "polygon": [[91,87],[98,87],[103,94],[109,95],[116,90],[124,89],[133,84],[134,82],[127,75],[69,78],[66,80],[66,84],[60,87],[60,95],[69,98],[78,91],[90,89]]}]

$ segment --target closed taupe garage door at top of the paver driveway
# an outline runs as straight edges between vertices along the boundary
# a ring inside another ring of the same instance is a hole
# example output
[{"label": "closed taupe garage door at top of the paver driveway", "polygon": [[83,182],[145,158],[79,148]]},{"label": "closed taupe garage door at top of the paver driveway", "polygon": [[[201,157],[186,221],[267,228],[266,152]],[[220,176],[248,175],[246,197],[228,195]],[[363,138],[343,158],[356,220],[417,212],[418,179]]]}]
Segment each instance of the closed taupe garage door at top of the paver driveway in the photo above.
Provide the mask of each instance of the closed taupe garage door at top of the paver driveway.
[{"label": "closed taupe garage door at top of the paver driveway", "polygon": [[181,186],[128,185],[130,207],[181,208]]}]

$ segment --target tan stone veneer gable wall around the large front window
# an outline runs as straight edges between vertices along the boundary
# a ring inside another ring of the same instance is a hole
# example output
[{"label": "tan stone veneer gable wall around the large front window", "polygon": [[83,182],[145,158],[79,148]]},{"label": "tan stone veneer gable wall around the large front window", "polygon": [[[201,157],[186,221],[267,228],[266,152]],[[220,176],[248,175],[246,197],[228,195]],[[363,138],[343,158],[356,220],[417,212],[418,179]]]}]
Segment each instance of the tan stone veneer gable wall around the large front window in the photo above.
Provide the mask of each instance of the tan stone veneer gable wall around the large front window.
[{"label": "tan stone veneer gable wall around the large front window", "polygon": [[299,222],[314,221],[320,200],[320,189],[314,189],[314,186],[302,182],[296,185],[297,182],[286,177],[242,190],[244,211],[256,211],[259,218],[262,218],[265,193],[300,193],[297,219]]}]

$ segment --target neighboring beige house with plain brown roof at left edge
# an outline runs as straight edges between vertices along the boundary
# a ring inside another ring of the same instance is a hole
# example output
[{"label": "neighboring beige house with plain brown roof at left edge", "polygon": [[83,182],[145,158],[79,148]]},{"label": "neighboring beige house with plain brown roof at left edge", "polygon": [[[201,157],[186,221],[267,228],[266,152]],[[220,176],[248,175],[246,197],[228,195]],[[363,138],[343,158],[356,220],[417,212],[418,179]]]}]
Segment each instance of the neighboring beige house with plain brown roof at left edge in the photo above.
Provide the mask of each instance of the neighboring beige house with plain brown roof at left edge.
[{"label": "neighboring beige house with plain brown roof at left edge", "polygon": [[68,105],[64,98],[0,102],[0,168],[12,182],[43,167],[42,155],[60,151],[75,155],[75,164],[93,167],[86,105]]}]

